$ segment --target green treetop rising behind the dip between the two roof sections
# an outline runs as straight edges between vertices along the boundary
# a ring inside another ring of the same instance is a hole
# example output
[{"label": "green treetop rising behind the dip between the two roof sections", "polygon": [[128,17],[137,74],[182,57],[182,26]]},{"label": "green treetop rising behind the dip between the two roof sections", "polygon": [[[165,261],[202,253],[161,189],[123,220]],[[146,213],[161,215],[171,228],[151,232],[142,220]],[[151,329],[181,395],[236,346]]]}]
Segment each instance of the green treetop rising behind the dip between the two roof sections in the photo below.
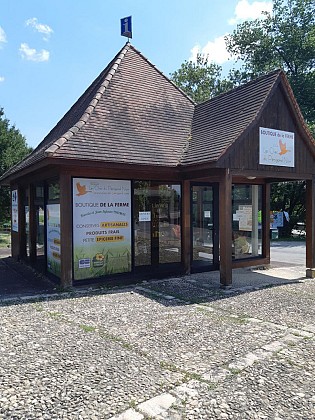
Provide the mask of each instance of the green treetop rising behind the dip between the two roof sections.
[{"label": "green treetop rising behind the dip between the two roof sections", "polygon": [[209,62],[208,57],[197,55],[196,62],[185,61],[170,74],[171,80],[196,103],[206,101],[233,87],[230,80],[222,79],[222,68]]}]

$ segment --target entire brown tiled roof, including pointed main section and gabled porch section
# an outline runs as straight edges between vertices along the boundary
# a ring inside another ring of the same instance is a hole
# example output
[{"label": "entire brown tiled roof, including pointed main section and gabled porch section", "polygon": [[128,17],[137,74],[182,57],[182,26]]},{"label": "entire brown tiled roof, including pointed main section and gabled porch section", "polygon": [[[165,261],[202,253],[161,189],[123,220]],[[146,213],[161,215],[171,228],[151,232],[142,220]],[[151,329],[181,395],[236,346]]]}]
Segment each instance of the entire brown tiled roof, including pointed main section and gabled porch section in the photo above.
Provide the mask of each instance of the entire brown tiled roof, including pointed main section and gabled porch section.
[{"label": "entire brown tiled roof, including pointed main section and gabled porch section", "polygon": [[312,142],[283,72],[195,105],[127,43],[31,155],[0,181],[46,158],[173,168],[216,162],[250,129],[278,83]]}]

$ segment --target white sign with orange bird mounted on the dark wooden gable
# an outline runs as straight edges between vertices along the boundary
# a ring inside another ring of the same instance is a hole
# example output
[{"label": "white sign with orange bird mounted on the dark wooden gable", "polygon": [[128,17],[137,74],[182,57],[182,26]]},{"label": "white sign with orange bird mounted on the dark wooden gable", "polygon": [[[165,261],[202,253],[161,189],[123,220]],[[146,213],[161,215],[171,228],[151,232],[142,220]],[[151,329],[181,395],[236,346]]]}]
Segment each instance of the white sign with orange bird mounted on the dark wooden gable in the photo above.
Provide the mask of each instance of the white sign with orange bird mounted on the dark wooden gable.
[{"label": "white sign with orange bird mounted on the dark wooden gable", "polygon": [[294,133],[260,127],[259,164],[294,168]]}]

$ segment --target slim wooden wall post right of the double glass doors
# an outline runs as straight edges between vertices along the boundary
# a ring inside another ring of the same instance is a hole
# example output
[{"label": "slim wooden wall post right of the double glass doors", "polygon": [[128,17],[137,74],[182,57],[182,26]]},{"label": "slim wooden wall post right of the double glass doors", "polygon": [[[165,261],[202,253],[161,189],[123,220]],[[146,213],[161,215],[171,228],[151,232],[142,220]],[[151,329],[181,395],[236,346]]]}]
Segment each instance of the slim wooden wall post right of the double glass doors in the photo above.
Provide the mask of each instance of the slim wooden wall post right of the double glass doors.
[{"label": "slim wooden wall post right of the double glass doors", "polygon": [[190,237],[190,181],[183,182],[183,205],[182,205],[182,256],[185,274],[190,274],[191,266],[191,237]]}]

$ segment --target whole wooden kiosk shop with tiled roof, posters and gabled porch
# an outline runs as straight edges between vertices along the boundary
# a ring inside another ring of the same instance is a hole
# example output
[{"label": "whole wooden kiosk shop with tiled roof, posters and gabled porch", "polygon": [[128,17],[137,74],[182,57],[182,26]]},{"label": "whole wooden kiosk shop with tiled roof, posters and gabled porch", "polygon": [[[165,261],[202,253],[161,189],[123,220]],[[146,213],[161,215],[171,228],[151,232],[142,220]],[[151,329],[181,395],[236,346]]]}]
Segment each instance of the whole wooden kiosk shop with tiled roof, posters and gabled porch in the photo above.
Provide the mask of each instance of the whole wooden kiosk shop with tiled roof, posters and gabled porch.
[{"label": "whole wooden kiosk shop with tiled roof, posters and gabled porch", "polygon": [[127,43],[39,146],[5,173],[12,256],[63,287],[270,262],[270,183],[306,180],[315,145],[275,71],[196,105]]}]

